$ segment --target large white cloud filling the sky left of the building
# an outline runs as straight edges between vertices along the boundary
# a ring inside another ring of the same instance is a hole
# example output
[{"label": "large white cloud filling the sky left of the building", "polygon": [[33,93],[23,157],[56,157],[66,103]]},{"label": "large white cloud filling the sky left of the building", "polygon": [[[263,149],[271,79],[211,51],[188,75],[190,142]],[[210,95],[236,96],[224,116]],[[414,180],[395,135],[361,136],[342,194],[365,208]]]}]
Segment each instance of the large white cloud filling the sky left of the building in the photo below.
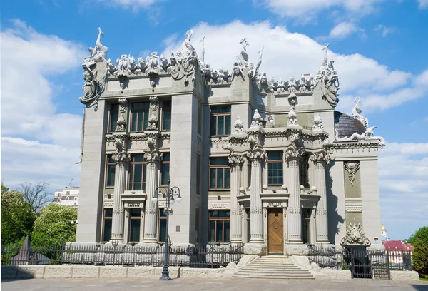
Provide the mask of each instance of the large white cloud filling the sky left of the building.
[{"label": "large white cloud filling the sky left of the building", "polygon": [[56,113],[61,91],[49,78],[78,69],[85,52],[23,21],[13,24],[1,32],[1,177],[12,188],[39,180],[63,187],[80,176],[81,116]]}]

